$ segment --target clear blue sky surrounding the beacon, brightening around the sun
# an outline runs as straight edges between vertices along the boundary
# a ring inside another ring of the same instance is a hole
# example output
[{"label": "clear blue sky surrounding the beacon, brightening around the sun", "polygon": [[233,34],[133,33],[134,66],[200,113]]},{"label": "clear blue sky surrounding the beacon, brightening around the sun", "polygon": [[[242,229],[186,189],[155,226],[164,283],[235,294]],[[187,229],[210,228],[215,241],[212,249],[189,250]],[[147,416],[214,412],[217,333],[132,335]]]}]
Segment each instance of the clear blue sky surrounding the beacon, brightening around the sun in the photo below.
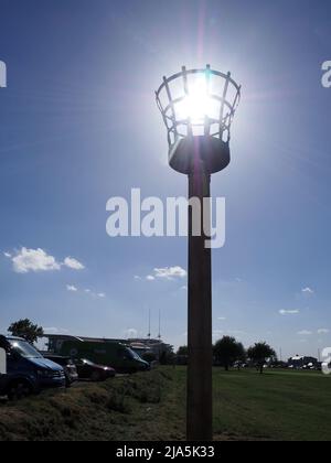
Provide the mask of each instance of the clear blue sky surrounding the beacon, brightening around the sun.
[{"label": "clear blue sky surrounding the beacon, brightening around the sun", "polygon": [[[182,64],[211,63],[243,85],[232,164],[212,184],[227,204],[226,246],[213,255],[215,336],[266,340],[284,356],[331,345],[331,89],[321,85],[321,65],[331,60],[330,2],[0,7],[8,66],[0,331],[29,316],[72,334],[146,335],[151,310],[157,335],[161,309],[164,338],[185,343],[185,279],[146,279],[154,268],[186,269],[185,239],[111,239],[106,202],[129,197],[132,187],[161,198],[186,194],[185,177],[167,166],[153,90]],[[53,270],[18,272],[12,259],[22,248],[42,249]],[[84,268],[64,265],[67,257]]]}]

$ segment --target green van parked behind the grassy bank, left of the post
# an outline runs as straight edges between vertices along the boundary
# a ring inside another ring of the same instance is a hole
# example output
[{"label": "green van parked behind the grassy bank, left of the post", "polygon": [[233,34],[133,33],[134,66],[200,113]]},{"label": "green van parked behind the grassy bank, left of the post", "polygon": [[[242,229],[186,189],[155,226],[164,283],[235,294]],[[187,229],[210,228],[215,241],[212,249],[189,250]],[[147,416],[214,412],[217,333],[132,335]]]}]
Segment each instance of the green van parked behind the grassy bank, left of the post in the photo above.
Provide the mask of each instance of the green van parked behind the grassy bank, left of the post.
[{"label": "green van parked behind the grassy bank, left of the post", "polygon": [[[50,337],[51,340],[51,337]],[[148,362],[128,346],[118,342],[83,341],[78,337],[70,337],[51,343],[52,351],[58,355],[71,358],[88,358],[98,365],[111,365],[117,373],[136,373],[150,369]]]}]

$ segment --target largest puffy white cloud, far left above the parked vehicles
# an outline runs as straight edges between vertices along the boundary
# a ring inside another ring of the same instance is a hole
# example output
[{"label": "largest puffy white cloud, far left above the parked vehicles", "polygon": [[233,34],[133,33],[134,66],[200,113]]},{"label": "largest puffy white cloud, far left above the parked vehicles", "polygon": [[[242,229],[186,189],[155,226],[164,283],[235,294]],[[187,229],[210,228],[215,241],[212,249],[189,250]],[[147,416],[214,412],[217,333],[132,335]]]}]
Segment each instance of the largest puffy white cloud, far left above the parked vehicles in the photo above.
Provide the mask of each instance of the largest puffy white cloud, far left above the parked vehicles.
[{"label": "largest puffy white cloud, far left above the parked vehicles", "polygon": [[61,265],[55,257],[49,256],[43,249],[22,248],[11,258],[13,270],[17,273],[28,273],[30,271],[52,271],[60,270]]}]

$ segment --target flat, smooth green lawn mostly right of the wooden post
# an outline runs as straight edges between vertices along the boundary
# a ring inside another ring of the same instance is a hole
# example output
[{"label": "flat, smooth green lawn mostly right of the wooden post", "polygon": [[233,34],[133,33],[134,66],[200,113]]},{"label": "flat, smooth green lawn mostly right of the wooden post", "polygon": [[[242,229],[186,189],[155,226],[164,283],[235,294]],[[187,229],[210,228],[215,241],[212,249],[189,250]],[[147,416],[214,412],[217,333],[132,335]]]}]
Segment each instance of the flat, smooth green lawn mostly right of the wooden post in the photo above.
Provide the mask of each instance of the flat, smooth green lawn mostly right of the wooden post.
[{"label": "flat, smooth green lawn mostly right of the wooden post", "polygon": [[[180,402],[185,369],[175,373]],[[179,392],[180,391],[180,392]],[[331,376],[214,369],[215,440],[331,440]]]}]

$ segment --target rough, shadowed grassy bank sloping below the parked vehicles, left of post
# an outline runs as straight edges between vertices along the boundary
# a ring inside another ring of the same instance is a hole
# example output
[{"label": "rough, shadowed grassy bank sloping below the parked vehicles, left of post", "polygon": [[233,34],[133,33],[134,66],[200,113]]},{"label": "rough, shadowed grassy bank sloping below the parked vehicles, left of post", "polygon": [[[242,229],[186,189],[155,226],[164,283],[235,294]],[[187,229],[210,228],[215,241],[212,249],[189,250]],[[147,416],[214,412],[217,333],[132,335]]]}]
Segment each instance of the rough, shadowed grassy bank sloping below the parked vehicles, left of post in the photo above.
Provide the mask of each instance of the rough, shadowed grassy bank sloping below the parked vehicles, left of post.
[{"label": "rough, shadowed grassy bank sloping below the parked vehicles, left of post", "polygon": [[2,405],[0,440],[174,439],[163,418],[172,381],[171,369],[161,369]]}]

